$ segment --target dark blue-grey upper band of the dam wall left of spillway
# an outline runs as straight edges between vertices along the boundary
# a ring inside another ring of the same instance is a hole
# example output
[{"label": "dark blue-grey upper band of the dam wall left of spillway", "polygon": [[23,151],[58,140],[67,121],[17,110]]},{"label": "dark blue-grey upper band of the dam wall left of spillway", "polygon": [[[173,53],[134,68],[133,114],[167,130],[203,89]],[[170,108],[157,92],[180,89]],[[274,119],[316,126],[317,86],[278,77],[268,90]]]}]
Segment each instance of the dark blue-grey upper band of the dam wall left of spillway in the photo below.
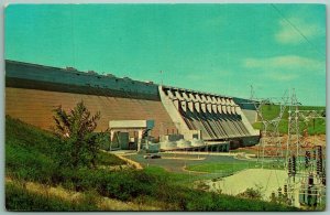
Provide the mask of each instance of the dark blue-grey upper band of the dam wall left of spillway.
[{"label": "dark blue-grey upper band of the dam wall left of spillway", "polygon": [[6,61],[6,87],[160,100],[158,87],[151,82],[13,61]]}]

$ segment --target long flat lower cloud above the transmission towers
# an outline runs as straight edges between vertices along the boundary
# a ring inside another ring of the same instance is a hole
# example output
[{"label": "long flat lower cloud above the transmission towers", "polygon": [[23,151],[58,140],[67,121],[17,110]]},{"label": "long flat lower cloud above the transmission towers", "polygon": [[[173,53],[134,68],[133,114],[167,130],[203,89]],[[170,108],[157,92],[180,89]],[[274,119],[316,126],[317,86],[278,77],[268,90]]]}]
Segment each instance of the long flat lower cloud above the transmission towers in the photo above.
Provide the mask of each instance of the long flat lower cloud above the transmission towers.
[{"label": "long flat lower cloud above the transmission towers", "polygon": [[285,71],[312,71],[323,73],[326,65],[321,61],[298,55],[282,55],[265,58],[245,58],[244,67],[262,69],[285,69]]}]

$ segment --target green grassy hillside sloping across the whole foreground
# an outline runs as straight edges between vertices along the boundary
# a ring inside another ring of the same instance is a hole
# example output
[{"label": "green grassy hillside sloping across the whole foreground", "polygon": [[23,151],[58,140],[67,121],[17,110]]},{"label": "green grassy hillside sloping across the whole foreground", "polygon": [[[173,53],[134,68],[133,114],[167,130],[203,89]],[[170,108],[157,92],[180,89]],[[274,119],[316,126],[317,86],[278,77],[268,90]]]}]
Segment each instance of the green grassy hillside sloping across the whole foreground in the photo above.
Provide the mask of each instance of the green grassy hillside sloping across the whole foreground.
[{"label": "green grassy hillside sloping across the whole foreground", "polygon": [[[113,207],[105,207],[98,200],[113,198],[142,205],[139,209],[146,211],[297,211],[280,204],[193,190],[187,183],[179,183],[187,182],[187,176],[158,169],[64,169],[56,162],[58,143],[46,131],[6,118],[7,209],[108,211]],[[99,158],[100,166],[122,163],[111,154]],[[46,195],[31,192],[29,183],[42,184]],[[85,197],[63,200],[50,192],[52,187]]]}]

